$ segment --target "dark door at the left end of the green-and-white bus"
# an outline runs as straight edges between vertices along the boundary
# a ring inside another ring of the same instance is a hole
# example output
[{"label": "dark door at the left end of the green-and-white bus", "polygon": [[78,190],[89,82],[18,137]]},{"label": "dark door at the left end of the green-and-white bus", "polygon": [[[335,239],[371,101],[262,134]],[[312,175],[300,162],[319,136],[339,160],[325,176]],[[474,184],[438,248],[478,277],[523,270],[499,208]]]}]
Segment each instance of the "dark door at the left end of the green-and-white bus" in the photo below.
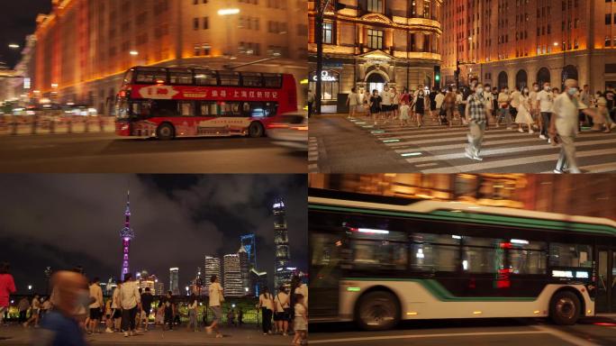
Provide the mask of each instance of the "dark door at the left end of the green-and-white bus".
[{"label": "dark door at the left end of the green-and-white bus", "polygon": [[339,281],[343,238],[337,232],[310,232],[311,319],[339,315]]}]

